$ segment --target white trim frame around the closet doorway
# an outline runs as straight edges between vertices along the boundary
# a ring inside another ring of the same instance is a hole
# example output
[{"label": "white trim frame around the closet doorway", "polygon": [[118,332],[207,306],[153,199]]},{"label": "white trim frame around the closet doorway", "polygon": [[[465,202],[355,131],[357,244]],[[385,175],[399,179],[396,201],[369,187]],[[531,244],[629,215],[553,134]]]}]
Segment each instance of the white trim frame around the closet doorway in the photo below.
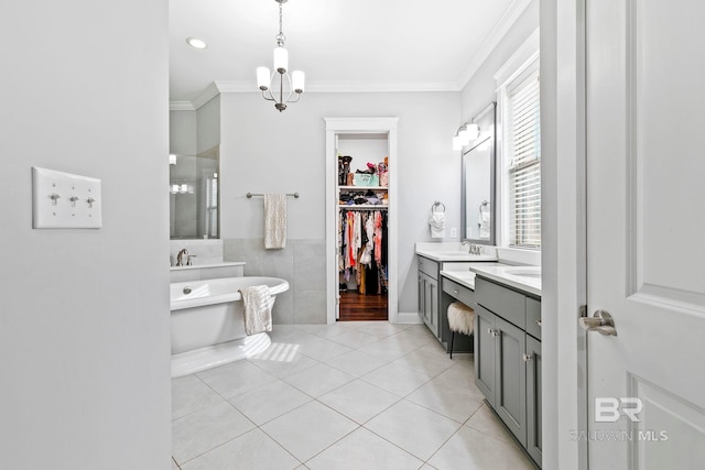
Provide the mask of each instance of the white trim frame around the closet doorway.
[{"label": "white trim frame around the closet doorway", "polygon": [[323,118],[326,125],[326,311],[327,324],[336,321],[338,307],[338,195],[336,181],[338,165],[335,136],[337,133],[386,133],[389,149],[389,207],[387,209],[387,276],[388,276],[388,319],[399,323],[399,165],[397,162],[397,124],[399,118]]}]

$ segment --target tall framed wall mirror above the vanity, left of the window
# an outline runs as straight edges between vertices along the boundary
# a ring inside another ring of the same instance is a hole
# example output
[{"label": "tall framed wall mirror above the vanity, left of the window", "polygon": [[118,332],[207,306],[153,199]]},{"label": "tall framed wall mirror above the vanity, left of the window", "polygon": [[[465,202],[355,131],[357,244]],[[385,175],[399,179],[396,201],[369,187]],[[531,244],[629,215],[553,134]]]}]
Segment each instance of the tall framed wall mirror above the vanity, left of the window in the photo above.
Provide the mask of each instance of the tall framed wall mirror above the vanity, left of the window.
[{"label": "tall framed wall mirror above the vanity, left of the window", "polygon": [[495,244],[496,113],[492,101],[473,119],[478,136],[463,152],[462,237],[471,243]]}]

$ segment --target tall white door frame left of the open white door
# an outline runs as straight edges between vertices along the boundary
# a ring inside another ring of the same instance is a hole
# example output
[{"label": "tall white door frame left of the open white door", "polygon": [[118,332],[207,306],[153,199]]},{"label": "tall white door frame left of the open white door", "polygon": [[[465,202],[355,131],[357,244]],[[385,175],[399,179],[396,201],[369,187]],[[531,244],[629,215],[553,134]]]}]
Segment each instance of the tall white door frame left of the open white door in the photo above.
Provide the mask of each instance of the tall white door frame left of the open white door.
[{"label": "tall white door frame left of the open white door", "polygon": [[[586,3],[541,1],[543,467],[587,470]],[[561,404],[557,406],[557,404]]]}]

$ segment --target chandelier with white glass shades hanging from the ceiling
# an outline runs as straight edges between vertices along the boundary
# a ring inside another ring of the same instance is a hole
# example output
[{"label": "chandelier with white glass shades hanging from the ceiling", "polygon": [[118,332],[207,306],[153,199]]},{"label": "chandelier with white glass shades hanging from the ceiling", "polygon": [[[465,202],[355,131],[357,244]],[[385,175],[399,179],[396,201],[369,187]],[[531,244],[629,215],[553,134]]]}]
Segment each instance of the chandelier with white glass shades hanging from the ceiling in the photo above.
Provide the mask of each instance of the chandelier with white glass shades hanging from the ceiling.
[{"label": "chandelier with white glass shades hanging from the ceiling", "polygon": [[[282,112],[286,109],[286,103],[296,102],[304,92],[304,79],[305,75],[301,70],[292,72],[289,75],[289,52],[284,47],[284,41],[286,36],[282,33],[282,4],[288,0],[274,0],[279,3],[279,34],[276,34],[276,47],[274,47],[274,70],[271,75],[269,68],[257,67],[257,86],[262,90],[262,98],[268,101],[274,101],[274,107]],[[272,94],[272,88],[275,88],[275,81],[279,78],[279,97],[275,97],[276,90]],[[284,81],[288,86],[284,87]],[[286,94],[284,92],[286,88]],[[286,97],[284,99],[284,96]]]}]

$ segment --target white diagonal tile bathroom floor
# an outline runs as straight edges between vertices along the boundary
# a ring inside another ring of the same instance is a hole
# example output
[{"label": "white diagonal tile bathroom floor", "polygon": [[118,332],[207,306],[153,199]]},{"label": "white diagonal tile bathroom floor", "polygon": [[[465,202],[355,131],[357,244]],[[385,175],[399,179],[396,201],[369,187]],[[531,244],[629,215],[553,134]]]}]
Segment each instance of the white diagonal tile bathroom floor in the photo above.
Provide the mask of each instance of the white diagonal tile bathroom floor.
[{"label": "white diagonal tile bathroom floor", "polygon": [[533,469],[422,325],[274,326],[254,359],[172,381],[174,469]]}]

